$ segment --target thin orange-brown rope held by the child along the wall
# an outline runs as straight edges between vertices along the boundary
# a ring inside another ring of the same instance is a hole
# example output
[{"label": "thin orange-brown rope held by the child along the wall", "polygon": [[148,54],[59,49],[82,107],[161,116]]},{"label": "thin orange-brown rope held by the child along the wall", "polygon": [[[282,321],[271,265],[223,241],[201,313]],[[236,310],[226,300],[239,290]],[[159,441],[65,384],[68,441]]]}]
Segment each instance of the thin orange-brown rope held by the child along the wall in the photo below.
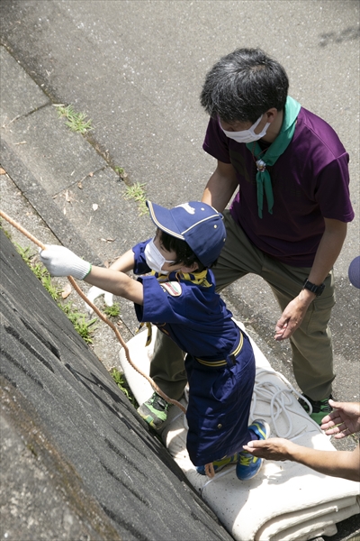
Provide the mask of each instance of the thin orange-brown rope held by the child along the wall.
[{"label": "thin orange-brown rope held by the child along the wall", "polygon": [[[26,229],[24,229],[22,227],[22,225],[19,225],[17,224],[13,218],[11,218],[10,216],[6,215],[2,210],[0,210],[0,215],[2,218],[4,218],[4,220],[6,220],[6,222],[8,222],[10,225],[13,225],[13,227],[15,227],[18,231],[20,231],[20,233],[24,234],[26,237],[28,237],[28,239],[31,240],[32,243],[35,243],[37,244],[38,246],[40,246],[40,248],[42,250],[45,250],[46,249],[46,246],[45,244],[43,243],[40,243],[40,241],[38,241],[38,239],[36,237],[34,237],[32,234],[30,234],[28,231],[26,231]],[[154,380],[152,380],[152,378],[150,378],[147,374],[145,374],[143,371],[139,370],[139,368],[131,361],[130,359],[130,352],[129,352],[129,348],[128,346],[126,345],[126,343],[123,341],[122,337],[121,337],[121,334],[119,333],[118,329],[116,328],[116,326],[113,325],[112,321],[110,321],[97,307],[94,306],[94,304],[91,302],[91,300],[89,300],[85,294],[83,293],[83,291],[78,287],[78,285],[76,284],[76,281],[73,279],[72,276],[67,276],[67,280],[70,282],[70,284],[73,286],[73,288],[76,290],[76,293],[83,299],[85,300],[85,303],[89,305],[89,307],[92,307],[95,314],[97,316],[100,317],[100,319],[103,320],[104,323],[106,323],[106,325],[110,326],[113,330],[113,332],[115,333],[117,339],[119,340],[120,344],[122,345],[122,347],[124,348],[125,350],[125,355],[126,355],[126,358],[128,360],[128,362],[130,363],[130,365],[132,366],[132,368],[139,372],[139,374],[141,376],[143,376],[146,380],[148,380],[148,382],[150,383],[151,387],[156,390],[157,394],[160,395],[160,397],[162,397],[164,400],[166,400],[166,402],[168,402],[169,404],[174,404],[175,406],[177,406],[177,408],[180,408],[184,413],[186,413],[186,409],[184,408],[183,404],[180,404],[180,402],[178,402],[177,400],[174,400],[174,399],[170,399],[169,397],[166,396],[166,394],[159,388],[157,387],[157,384],[155,383]]]}]

